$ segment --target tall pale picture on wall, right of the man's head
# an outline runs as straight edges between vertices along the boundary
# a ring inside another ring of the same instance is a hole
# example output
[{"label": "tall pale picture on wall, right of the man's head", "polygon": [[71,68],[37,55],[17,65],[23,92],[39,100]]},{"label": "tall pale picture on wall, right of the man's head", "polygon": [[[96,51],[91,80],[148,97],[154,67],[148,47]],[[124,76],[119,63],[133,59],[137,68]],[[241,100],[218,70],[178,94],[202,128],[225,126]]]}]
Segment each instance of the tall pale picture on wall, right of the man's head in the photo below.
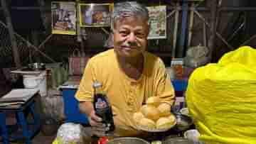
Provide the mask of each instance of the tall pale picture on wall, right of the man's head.
[{"label": "tall pale picture on wall, right of the man's head", "polygon": [[166,38],[166,6],[149,6],[150,33],[148,39]]}]

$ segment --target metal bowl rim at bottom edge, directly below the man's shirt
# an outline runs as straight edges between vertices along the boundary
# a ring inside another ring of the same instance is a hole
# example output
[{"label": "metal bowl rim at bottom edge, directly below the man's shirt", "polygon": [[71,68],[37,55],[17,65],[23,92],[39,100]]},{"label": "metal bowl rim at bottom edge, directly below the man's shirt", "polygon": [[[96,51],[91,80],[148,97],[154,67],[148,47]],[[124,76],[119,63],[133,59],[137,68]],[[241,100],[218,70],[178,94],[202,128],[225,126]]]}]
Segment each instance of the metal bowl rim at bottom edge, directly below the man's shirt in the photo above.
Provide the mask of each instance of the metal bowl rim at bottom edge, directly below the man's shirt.
[{"label": "metal bowl rim at bottom edge, directly below the man's shirt", "polygon": [[150,143],[141,138],[124,137],[124,138],[114,138],[108,141],[107,144],[150,144]]}]

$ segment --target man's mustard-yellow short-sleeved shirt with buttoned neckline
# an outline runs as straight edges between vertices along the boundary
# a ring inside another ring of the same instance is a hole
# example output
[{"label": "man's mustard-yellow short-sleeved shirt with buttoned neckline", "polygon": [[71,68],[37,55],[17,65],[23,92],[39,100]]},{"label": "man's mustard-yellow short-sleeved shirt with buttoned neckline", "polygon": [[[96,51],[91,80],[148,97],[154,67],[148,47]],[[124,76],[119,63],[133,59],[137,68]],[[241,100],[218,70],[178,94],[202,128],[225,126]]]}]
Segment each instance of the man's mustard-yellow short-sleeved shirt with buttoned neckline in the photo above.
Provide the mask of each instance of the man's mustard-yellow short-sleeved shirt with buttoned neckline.
[{"label": "man's mustard-yellow short-sleeved shirt with buttoned neckline", "polygon": [[159,57],[145,52],[142,76],[135,80],[122,72],[116,56],[111,49],[92,57],[75,97],[78,101],[92,101],[92,82],[101,82],[116,115],[116,132],[124,136],[137,135],[133,113],[139,111],[149,96],[159,96],[161,101],[173,104],[174,88]]}]

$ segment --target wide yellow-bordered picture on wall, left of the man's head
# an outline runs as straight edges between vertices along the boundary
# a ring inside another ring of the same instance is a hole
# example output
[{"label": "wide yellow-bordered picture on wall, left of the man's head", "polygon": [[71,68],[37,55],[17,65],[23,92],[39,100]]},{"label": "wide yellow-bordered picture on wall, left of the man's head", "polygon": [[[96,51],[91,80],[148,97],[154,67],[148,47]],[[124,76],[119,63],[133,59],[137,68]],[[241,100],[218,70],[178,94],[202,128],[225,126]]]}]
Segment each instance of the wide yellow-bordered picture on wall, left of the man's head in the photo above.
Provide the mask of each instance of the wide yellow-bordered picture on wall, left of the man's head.
[{"label": "wide yellow-bordered picture on wall, left of the man's head", "polygon": [[110,4],[80,4],[80,26],[110,26]]}]

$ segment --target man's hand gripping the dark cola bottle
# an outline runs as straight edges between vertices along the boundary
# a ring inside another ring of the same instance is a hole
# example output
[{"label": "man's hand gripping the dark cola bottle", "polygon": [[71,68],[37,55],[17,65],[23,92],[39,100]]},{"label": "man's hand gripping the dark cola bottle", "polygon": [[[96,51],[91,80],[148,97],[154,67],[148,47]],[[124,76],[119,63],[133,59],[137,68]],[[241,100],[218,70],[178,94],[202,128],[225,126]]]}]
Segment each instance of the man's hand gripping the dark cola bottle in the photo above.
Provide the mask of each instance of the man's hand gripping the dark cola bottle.
[{"label": "man's hand gripping the dark cola bottle", "polygon": [[110,130],[110,126],[106,126],[105,123],[102,123],[102,118],[97,116],[94,110],[91,111],[90,116],[88,118],[89,118],[90,126],[92,126],[93,134],[99,137],[107,135],[107,133],[105,132]]}]

